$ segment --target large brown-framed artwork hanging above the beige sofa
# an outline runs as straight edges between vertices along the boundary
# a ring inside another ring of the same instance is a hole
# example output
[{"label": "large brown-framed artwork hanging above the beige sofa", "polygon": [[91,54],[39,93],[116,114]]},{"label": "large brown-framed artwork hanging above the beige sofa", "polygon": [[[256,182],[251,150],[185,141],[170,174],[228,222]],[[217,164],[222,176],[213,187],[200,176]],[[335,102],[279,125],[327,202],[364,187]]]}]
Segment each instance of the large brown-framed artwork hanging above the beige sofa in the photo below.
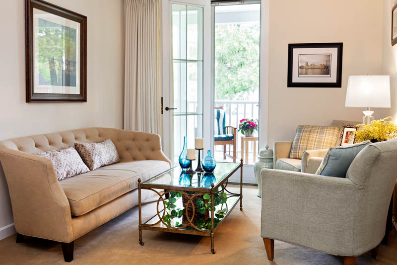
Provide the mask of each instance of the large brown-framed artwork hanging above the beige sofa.
[{"label": "large brown-framed artwork hanging above the beige sofa", "polygon": [[87,17],[25,0],[26,102],[87,101]]}]

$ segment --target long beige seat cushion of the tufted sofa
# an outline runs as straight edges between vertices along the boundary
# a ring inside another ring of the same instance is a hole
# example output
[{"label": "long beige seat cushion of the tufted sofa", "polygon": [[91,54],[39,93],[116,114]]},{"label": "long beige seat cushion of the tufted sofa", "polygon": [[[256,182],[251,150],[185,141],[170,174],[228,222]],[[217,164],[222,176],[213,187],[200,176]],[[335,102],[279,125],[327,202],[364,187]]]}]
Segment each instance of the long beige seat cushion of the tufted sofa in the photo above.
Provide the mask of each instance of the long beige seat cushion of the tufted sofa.
[{"label": "long beige seat cushion of the tufted sofa", "polygon": [[60,181],[71,215],[79,216],[135,189],[138,178],[146,181],[167,169],[165,161],[126,161]]}]

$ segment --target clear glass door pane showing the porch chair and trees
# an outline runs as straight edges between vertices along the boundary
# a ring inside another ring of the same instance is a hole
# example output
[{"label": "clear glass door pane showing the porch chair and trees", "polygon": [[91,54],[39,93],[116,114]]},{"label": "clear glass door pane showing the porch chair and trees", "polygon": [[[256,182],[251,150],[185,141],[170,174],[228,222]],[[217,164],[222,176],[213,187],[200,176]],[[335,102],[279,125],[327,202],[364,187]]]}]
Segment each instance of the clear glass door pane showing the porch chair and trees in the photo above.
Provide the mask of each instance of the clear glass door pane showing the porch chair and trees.
[{"label": "clear glass door pane showing the porch chair and trees", "polygon": [[261,4],[214,7],[214,122],[220,124],[214,131],[217,161],[256,161],[259,132],[253,129],[252,137],[246,138],[241,131],[234,134],[233,128],[224,127],[238,130],[241,120],[250,119],[255,122],[251,127],[259,129],[260,14]]}]

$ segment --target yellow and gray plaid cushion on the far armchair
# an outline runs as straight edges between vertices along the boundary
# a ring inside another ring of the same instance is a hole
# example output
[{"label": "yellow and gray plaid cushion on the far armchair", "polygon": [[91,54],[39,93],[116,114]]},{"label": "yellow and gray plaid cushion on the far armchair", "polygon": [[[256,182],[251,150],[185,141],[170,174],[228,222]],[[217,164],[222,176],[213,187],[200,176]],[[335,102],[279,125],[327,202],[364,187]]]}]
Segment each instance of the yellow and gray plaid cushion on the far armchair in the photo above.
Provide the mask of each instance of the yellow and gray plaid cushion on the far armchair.
[{"label": "yellow and gray plaid cushion on the far armchair", "polygon": [[289,158],[302,159],[303,151],[333,147],[338,133],[338,127],[299,125]]}]

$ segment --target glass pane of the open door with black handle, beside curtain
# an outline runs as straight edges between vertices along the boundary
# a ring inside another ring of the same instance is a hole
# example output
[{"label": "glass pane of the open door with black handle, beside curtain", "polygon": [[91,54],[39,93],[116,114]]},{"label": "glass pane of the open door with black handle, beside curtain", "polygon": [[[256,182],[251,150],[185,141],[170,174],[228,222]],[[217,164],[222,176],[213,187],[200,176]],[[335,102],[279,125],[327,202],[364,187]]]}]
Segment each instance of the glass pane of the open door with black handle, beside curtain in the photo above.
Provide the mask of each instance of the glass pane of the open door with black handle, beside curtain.
[{"label": "glass pane of the open door with black handle, beside curtain", "polygon": [[189,148],[202,137],[202,35],[203,8],[171,4],[172,19],[172,102],[171,122],[174,163],[187,138]]}]

